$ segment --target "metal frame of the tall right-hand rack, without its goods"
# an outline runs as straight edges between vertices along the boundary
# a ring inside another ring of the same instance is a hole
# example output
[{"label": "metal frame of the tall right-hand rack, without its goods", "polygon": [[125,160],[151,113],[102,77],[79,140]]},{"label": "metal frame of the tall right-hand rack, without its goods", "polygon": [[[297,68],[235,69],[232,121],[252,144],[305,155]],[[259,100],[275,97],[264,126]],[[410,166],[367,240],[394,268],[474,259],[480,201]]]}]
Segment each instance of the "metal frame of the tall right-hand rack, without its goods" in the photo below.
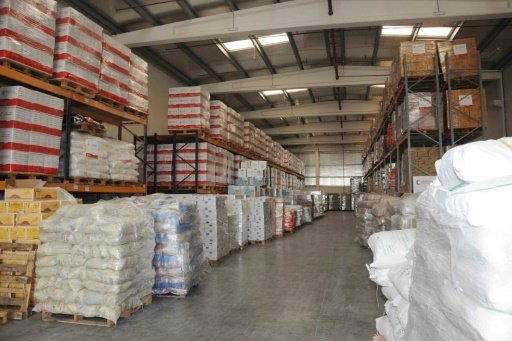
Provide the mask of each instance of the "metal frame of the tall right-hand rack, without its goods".
[{"label": "metal frame of the tall right-hand rack, without its goods", "polygon": [[[383,118],[378,127],[377,134],[373,137],[370,147],[363,157],[363,163],[369,157],[369,154],[375,150],[375,144],[380,136],[385,134],[385,129],[390,121],[397,122],[397,108],[400,104],[404,104],[405,111],[405,131],[399,133],[394,129],[394,144],[389,147],[383,157],[377,160],[373,166],[364,175],[364,180],[368,184],[369,191],[389,191],[389,192],[412,192],[413,189],[413,170],[418,170],[424,175],[435,175],[422,170],[421,167],[412,162],[411,151],[415,147],[437,147],[439,158],[443,156],[445,147],[452,147],[459,144],[467,143],[483,134],[486,127],[485,115],[485,93],[482,84],[482,71],[480,65],[480,55],[478,55],[478,75],[476,77],[460,77],[456,80],[452,79],[452,72],[450,60],[446,56],[446,81],[439,69],[439,59],[437,54],[434,56],[435,68],[433,72],[425,77],[411,78],[407,76],[407,63],[404,58],[404,75],[403,82],[398,85],[395,90],[393,98],[383,106]],[[480,96],[480,112],[481,119],[475,122],[475,127],[470,129],[457,129],[455,128],[455,113],[465,115],[456,105],[450,102],[452,92],[460,89],[473,89],[476,90]],[[432,92],[435,95],[435,103],[432,103],[431,113],[435,115],[437,121],[437,130],[424,131],[413,127],[415,123],[421,122],[426,117],[423,116],[414,122],[409,121],[408,111],[408,94],[417,94],[419,92]],[[446,104],[441,101],[441,98],[446,99]],[[443,113],[447,115],[444,116]],[[446,121],[445,121],[446,119]],[[445,122],[448,127],[445,127]],[[396,125],[395,125],[396,128]],[[404,170],[402,169],[403,153],[407,153],[408,167],[407,172],[408,183],[400,186],[404,178]],[[396,186],[389,190],[384,189],[383,186],[383,173],[389,165],[395,165],[396,169]]]}]

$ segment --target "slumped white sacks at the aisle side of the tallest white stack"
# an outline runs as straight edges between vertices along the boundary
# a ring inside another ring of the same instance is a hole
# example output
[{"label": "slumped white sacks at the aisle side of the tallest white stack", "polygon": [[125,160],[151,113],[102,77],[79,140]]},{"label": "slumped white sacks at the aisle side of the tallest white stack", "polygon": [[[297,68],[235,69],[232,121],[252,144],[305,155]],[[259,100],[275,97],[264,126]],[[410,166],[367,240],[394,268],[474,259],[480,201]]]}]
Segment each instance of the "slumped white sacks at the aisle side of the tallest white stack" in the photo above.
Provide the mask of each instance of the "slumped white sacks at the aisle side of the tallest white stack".
[{"label": "slumped white sacks at the aisle side of the tallest white stack", "polygon": [[416,238],[416,229],[378,232],[370,236],[373,263],[368,266],[370,279],[382,286],[388,299],[386,315],[376,320],[377,331],[386,341],[406,340],[409,290],[412,264],[407,259]]}]

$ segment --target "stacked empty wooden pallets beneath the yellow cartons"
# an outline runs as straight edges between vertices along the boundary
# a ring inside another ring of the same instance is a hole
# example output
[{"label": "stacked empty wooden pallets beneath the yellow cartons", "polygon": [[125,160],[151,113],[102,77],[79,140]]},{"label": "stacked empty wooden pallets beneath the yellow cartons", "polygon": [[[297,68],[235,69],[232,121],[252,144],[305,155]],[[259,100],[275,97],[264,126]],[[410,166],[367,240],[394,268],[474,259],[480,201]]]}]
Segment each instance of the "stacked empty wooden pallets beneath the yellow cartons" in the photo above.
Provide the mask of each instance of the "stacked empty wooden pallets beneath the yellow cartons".
[{"label": "stacked empty wooden pallets beneath the yellow cartons", "polygon": [[28,317],[36,252],[29,244],[0,244],[0,311],[9,319]]}]

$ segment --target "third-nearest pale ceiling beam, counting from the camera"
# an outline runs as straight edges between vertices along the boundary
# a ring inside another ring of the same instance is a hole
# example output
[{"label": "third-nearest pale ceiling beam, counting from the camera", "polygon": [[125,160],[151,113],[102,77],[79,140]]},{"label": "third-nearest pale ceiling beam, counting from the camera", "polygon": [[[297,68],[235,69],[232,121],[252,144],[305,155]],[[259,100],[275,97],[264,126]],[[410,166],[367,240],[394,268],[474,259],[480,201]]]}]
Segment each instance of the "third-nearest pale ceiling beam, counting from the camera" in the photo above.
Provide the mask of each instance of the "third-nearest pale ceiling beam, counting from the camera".
[{"label": "third-nearest pale ceiling beam, counting from the camera", "polygon": [[241,112],[245,120],[261,120],[271,118],[289,117],[318,117],[338,115],[374,115],[379,111],[378,101],[342,101],[342,109],[338,109],[337,101],[317,102],[314,104],[303,104],[285,106],[274,109],[254,110]]}]

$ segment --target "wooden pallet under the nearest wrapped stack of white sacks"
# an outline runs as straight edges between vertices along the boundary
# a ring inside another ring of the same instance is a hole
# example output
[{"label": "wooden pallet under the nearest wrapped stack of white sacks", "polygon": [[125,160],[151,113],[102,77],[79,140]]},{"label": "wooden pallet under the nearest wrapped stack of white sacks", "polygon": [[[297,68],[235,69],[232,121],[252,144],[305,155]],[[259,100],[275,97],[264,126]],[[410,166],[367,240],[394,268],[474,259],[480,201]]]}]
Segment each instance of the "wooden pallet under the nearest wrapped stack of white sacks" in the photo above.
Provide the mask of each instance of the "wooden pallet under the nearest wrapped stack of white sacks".
[{"label": "wooden pallet under the nearest wrapped stack of white sacks", "polygon": [[[123,311],[120,318],[127,318],[136,312],[142,310],[145,306],[150,305],[153,301],[152,295],[144,296],[142,304],[137,307],[127,309]],[[86,317],[79,314],[53,314],[48,311],[41,312],[41,319],[43,321],[57,321],[61,323],[76,324],[80,326],[94,326],[94,327],[113,327],[115,326],[114,321],[104,319],[101,317]]]}]

